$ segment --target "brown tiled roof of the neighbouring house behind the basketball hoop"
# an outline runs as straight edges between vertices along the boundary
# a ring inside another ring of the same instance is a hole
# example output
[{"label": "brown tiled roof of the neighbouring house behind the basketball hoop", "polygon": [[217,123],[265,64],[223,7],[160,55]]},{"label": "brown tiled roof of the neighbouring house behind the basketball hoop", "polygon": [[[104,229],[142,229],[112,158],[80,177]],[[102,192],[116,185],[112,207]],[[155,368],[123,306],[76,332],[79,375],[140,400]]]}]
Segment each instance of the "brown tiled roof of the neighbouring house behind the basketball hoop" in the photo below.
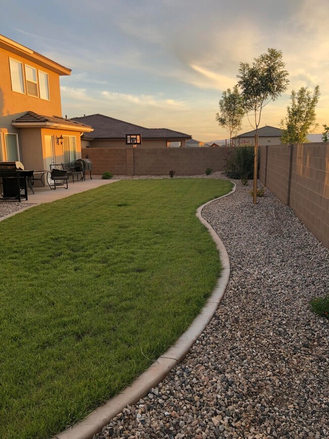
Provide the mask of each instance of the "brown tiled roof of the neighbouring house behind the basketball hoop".
[{"label": "brown tiled roof of the neighbouring house behind the basketball hoop", "polygon": [[145,128],[140,125],[120,121],[104,114],[91,114],[83,117],[72,117],[72,121],[86,123],[93,127],[92,134],[84,134],[86,139],[125,139],[126,134],[141,134],[142,139],[190,139],[189,134],[168,128]]}]

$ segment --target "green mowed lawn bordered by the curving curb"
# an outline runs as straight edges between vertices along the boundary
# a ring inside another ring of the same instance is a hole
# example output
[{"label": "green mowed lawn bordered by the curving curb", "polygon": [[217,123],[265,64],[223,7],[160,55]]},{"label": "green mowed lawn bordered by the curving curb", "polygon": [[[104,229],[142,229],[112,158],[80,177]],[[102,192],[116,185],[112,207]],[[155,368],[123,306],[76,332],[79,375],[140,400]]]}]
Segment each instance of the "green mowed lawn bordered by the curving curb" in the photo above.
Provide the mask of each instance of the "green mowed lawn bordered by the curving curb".
[{"label": "green mowed lawn bordered by the curving curb", "polygon": [[62,431],[175,342],[220,274],[195,211],[231,187],[122,181],[0,222],[0,437]]}]

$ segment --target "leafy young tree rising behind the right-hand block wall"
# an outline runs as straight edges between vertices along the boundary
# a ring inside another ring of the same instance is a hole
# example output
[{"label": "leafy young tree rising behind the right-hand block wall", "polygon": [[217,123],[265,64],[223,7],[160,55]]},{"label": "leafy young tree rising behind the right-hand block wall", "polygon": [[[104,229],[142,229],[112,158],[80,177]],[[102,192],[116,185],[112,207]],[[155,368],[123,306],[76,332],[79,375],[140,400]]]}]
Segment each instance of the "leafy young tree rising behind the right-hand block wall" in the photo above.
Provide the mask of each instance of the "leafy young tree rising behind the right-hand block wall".
[{"label": "leafy young tree rising behind the right-hand block wall", "polygon": [[307,87],[301,87],[291,94],[291,105],[287,106],[287,116],[281,120],[281,143],[306,143],[307,133],[318,127],[315,107],[320,97],[319,86],[311,95]]}]

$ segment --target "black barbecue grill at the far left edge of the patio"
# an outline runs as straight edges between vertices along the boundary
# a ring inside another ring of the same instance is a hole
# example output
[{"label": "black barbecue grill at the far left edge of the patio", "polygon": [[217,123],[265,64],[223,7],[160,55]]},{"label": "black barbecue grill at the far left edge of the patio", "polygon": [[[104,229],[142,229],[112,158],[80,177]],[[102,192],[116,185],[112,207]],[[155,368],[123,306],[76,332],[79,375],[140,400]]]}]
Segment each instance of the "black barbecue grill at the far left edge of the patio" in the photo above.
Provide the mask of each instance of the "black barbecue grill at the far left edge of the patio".
[{"label": "black barbecue grill at the far left edge of the patio", "polygon": [[26,179],[32,177],[33,171],[24,171],[21,162],[0,162],[0,179],[2,180],[2,198],[4,200],[27,200]]}]

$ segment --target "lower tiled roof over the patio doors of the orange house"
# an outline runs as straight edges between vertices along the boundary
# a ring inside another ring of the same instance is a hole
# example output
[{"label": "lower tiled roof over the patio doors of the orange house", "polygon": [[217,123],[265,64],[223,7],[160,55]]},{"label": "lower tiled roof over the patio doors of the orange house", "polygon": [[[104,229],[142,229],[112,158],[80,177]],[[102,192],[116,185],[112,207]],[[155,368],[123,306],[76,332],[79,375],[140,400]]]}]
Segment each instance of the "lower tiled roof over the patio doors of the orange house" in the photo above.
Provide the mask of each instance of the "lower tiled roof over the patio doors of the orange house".
[{"label": "lower tiled roof over the patio doors of the orange house", "polygon": [[27,111],[22,116],[12,122],[14,127],[54,127],[74,129],[75,131],[93,131],[89,125],[81,124],[79,122],[71,121],[60,116],[43,116],[42,114],[34,113],[34,111]]}]

